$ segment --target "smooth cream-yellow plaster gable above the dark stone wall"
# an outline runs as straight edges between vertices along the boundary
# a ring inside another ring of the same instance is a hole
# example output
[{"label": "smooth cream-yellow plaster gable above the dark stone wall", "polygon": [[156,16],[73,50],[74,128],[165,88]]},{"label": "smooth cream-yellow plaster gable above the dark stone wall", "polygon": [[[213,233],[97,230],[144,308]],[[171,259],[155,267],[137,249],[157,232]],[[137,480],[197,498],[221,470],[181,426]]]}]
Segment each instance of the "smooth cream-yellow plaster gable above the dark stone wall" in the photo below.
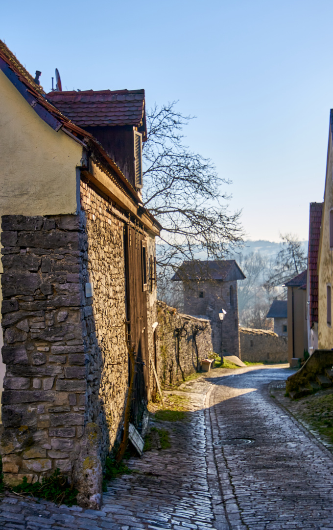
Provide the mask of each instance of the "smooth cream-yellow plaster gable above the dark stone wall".
[{"label": "smooth cream-yellow plaster gable above the dark stone wall", "polygon": [[82,147],[45,123],[0,70],[0,215],[72,214]]}]

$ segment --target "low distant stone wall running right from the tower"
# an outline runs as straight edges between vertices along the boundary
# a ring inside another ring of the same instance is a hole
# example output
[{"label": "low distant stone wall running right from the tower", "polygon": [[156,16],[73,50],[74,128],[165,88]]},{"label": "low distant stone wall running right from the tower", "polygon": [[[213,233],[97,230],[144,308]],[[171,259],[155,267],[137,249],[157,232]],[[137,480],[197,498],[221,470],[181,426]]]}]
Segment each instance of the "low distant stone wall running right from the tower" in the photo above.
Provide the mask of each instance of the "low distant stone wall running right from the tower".
[{"label": "low distant stone wall running right from the tower", "polygon": [[279,337],[274,331],[239,328],[241,358],[243,361],[259,363],[286,363],[288,358],[288,339]]}]

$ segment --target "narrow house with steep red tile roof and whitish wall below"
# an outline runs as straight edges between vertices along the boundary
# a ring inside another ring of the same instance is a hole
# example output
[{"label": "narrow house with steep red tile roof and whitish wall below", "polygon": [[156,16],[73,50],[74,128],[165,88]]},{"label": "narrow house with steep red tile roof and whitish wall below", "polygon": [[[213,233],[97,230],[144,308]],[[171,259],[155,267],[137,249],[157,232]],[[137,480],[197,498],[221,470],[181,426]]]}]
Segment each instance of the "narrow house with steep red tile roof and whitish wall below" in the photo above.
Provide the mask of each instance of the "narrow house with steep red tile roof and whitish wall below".
[{"label": "narrow house with steep red tile roof and whitish wall below", "polygon": [[318,251],[322,202],[310,203],[307,306],[308,306],[308,344],[309,353],[318,348]]}]

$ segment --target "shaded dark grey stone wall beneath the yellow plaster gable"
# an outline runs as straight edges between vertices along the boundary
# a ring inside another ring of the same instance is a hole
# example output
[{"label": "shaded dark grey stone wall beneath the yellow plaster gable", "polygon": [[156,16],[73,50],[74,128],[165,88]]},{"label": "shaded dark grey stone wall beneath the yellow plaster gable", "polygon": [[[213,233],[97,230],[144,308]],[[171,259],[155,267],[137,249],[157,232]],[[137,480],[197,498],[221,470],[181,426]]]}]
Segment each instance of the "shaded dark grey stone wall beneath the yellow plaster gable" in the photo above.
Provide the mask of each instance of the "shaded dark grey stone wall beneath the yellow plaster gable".
[{"label": "shaded dark grey stone wall beneath the yellow plaster gable", "polygon": [[[91,312],[83,288],[84,219],[3,216],[2,230],[4,480],[36,480],[59,467],[79,482],[87,447],[85,319]],[[97,470],[98,458],[90,454],[87,468]]]}]

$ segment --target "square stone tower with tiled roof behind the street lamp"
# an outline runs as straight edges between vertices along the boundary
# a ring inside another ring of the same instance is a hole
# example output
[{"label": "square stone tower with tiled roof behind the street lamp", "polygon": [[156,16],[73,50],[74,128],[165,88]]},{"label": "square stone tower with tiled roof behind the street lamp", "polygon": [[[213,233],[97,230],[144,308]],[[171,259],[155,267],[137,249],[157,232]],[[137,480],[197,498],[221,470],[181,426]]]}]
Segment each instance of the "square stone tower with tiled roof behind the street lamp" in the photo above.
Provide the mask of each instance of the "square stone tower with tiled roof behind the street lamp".
[{"label": "square stone tower with tiled roof behind the street lamp", "polygon": [[217,354],[240,355],[237,280],[244,279],[235,260],[185,261],[172,278],[183,283],[184,313],[210,320]]}]

